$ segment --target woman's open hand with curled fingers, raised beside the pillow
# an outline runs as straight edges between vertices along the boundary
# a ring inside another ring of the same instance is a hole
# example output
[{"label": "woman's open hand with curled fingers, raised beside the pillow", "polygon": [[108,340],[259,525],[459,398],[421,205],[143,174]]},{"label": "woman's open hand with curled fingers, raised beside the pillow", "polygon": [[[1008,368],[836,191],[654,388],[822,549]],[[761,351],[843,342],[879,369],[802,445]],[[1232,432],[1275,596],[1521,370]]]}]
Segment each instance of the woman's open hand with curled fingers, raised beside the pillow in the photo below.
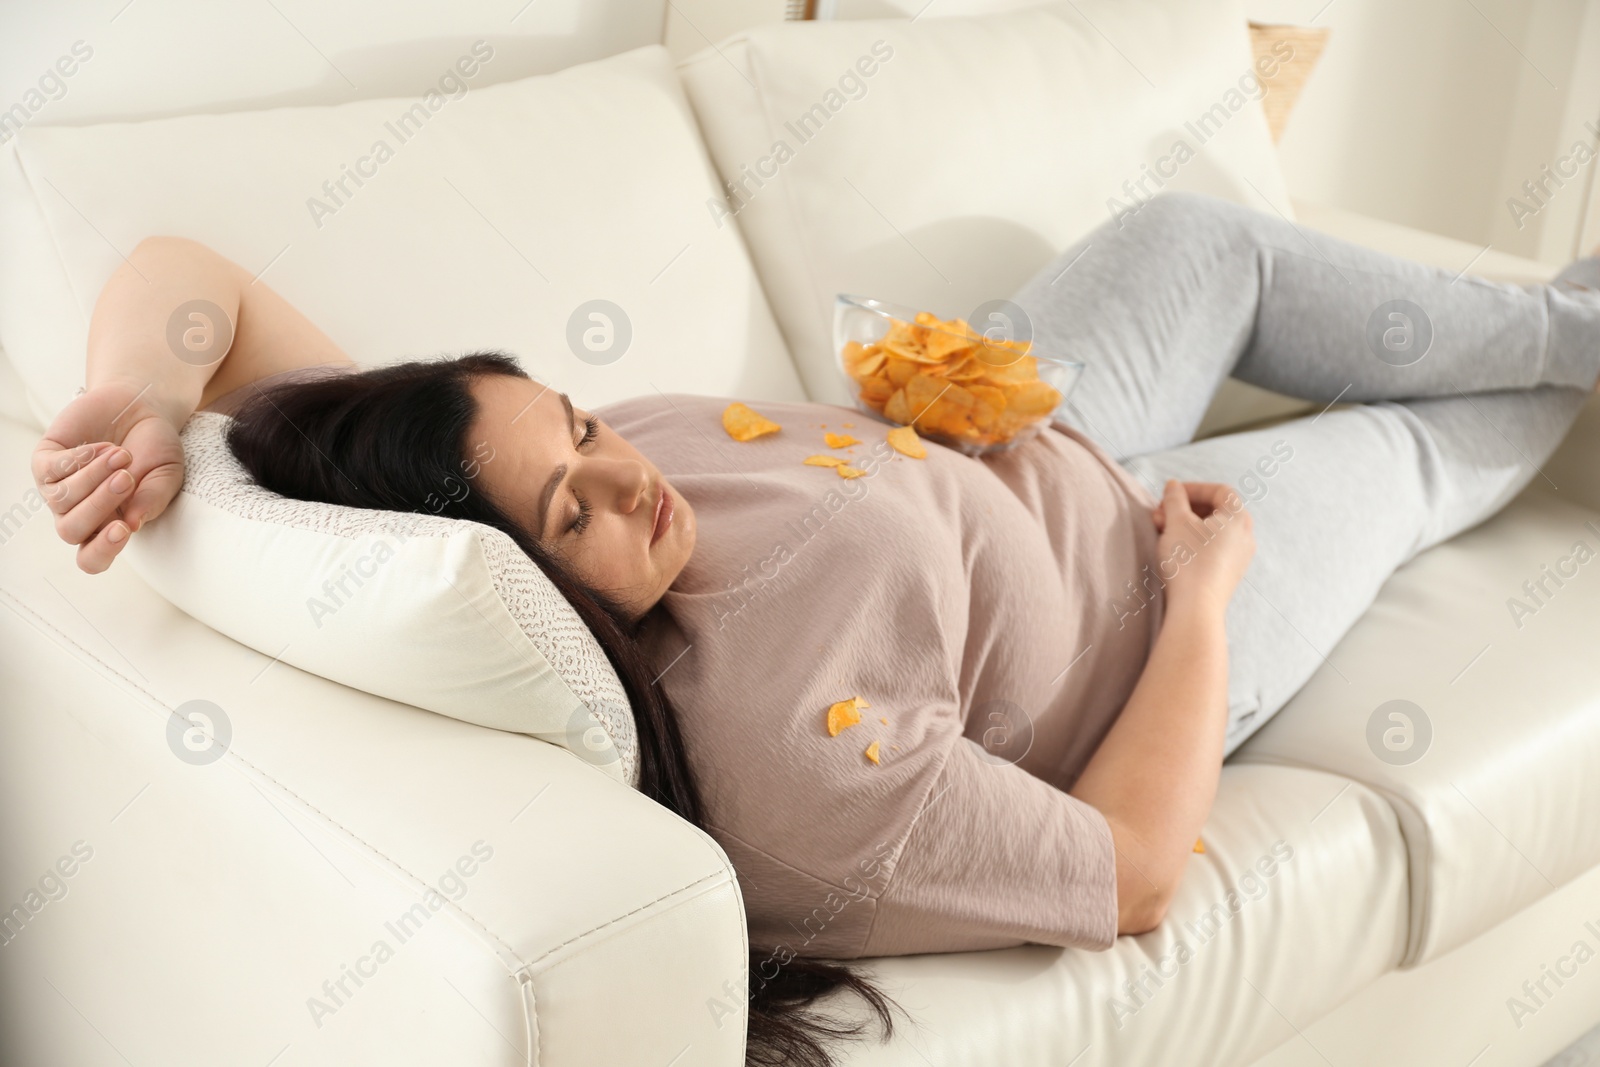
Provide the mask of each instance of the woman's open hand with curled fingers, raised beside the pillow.
[{"label": "woman's open hand with curled fingers, raised beside the pillow", "polygon": [[146,394],[133,379],[101,382],[62,408],[34,450],[34,483],[56,534],[78,545],[90,574],[110,566],[184,483],[178,427]]}]

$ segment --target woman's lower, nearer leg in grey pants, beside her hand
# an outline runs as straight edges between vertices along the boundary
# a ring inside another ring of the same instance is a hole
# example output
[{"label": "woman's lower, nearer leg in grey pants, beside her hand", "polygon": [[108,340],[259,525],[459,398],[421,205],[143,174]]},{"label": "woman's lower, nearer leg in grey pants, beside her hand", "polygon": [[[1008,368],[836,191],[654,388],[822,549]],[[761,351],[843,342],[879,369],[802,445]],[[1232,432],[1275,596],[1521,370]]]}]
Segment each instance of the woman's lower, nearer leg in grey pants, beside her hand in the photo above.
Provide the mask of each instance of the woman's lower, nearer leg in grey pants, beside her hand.
[{"label": "woman's lower, nearer leg in grey pants, beside her hand", "polygon": [[[1600,363],[1600,328],[1592,346]],[[1542,386],[1357,405],[1128,461],[1152,491],[1166,478],[1234,485],[1254,518],[1256,557],[1227,611],[1226,752],[1306,683],[1397,566],[1542,478],[1587,395]]]}]

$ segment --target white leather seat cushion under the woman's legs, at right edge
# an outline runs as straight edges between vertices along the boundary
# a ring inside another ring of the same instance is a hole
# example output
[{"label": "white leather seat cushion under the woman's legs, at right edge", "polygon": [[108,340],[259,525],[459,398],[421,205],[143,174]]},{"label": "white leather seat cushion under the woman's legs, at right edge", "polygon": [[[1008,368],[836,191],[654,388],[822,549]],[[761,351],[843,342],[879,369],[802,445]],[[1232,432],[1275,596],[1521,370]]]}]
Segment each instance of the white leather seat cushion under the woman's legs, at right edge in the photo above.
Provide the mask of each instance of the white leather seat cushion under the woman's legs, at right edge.
[{"label": "white leather seat cushion under the woman's legs, at right edge", "polygon": [[1331,771],[1394,805],[1411,864],[1406,965],[1600,864],[1597,619],[1600,512],[1536,480],[1397,571],[1235,753]]}]

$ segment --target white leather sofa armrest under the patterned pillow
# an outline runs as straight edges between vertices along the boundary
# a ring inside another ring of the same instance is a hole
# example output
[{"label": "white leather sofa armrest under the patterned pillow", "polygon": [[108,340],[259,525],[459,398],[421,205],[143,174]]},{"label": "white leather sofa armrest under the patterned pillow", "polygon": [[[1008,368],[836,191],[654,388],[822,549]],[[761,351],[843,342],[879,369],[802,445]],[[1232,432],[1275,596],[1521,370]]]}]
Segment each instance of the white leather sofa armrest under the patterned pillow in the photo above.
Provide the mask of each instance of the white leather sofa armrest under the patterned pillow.
[{"label": "white leather sofa armrest under the patterned pillow", "polygon": [[[0,421],[0,499],[32,437]],[[726,856],[573,753],[80,574],[48,512],[0,545],[0,1061],[742,1064]]]}]

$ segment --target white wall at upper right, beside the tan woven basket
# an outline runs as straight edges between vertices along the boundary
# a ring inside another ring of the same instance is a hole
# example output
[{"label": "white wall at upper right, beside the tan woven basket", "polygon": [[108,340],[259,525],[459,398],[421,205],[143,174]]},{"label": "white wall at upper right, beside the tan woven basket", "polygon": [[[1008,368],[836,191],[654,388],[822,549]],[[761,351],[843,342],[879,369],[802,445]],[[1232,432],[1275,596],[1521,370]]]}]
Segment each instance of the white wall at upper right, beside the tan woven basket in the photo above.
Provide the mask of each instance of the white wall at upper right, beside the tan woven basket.
[{"label": "white wall at upper right, beside the tan woven basket", "polygon": [[[1594,144],[1595,0],[1246,0],[1262,22],[1333,35],[1280,154],[1296,198],[1565,262],[1595,166],[1518,227],[1507,198]],[[1320,14],[1318,14],[1320,11]]]}]

